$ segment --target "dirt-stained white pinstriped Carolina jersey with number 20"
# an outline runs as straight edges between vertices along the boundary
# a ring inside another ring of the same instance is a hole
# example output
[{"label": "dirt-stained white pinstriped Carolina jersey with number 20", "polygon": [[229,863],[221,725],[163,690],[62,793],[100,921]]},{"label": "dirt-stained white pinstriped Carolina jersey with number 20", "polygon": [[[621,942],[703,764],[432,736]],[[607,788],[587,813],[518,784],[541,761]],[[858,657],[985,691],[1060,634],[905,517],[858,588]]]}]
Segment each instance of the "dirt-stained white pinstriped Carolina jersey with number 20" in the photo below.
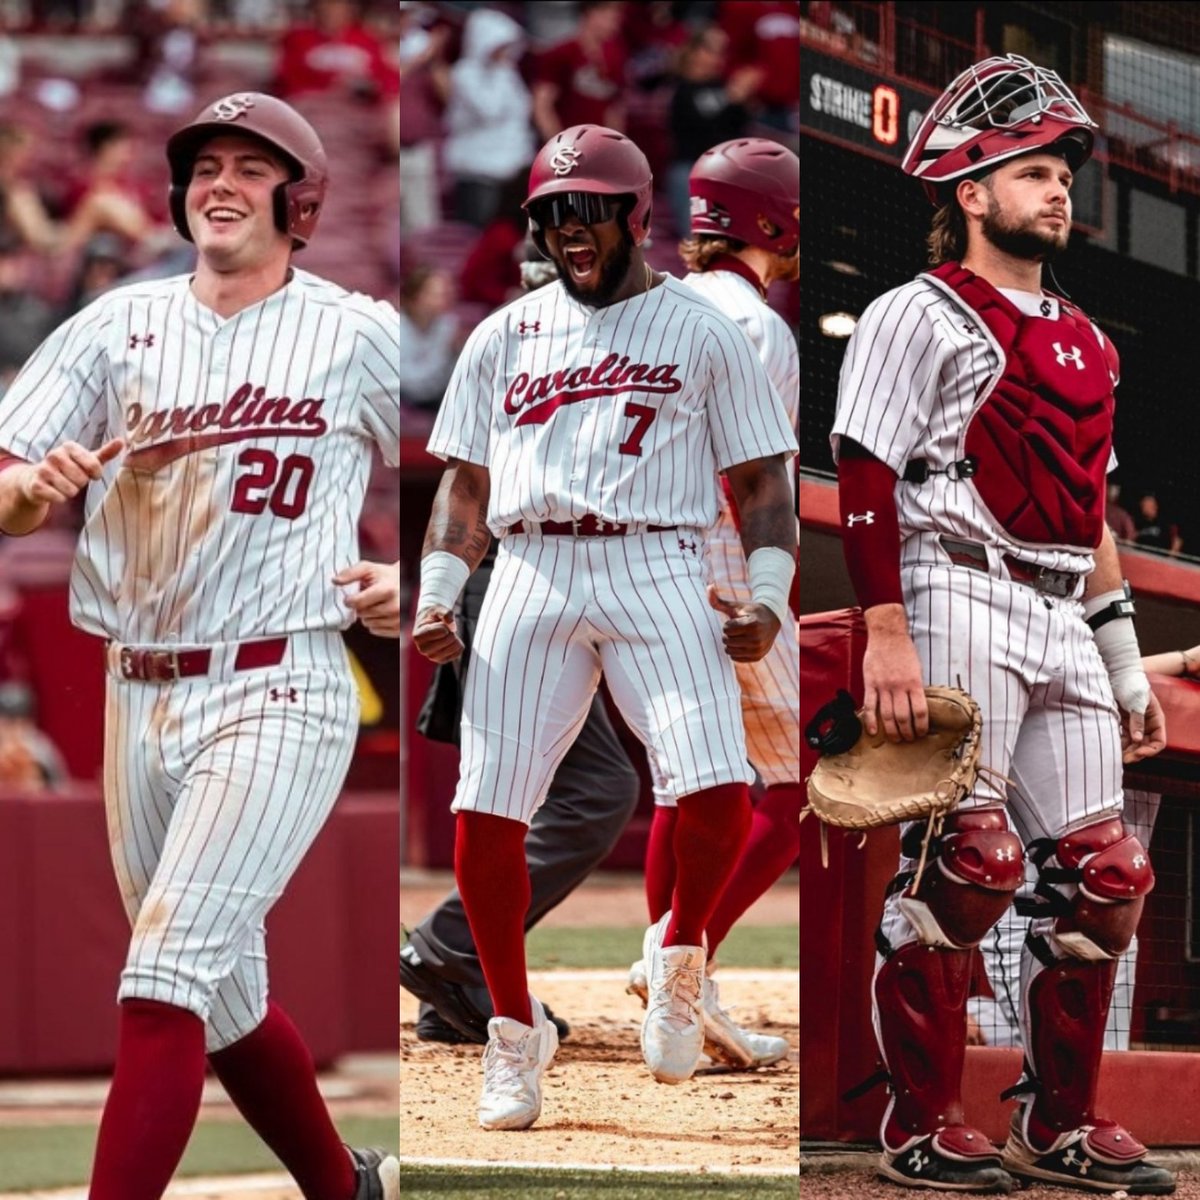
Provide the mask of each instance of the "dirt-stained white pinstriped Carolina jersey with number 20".
[{"label": "dirt-stained white pinstriped Carolina jersey with number 20", "polygon": [[59,326],[0,401],[0,448],[126,450],[88,488],[71,611],[127,644],[350,623],[371,450],[400,456],[398,317],[294,270],[223,319],[188,276],[118,288]]}]

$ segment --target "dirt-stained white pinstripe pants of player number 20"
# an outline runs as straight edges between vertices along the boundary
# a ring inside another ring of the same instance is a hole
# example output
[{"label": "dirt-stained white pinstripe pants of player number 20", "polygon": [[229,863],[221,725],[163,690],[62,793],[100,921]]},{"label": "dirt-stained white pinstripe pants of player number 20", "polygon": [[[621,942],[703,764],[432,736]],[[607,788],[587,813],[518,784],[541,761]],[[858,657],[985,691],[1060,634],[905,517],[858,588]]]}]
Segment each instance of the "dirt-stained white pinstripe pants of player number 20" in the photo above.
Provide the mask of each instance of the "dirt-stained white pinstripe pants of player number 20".
[{"label": "dirt-stained white pinstripe pants of player number 20", "polygon": [[133,926],[122,1000],[196,1013],[210,1050],[262,1021],[263,922],[337,799],[358,722],[334,632],[223,682],[110,674],[104,794]]}]

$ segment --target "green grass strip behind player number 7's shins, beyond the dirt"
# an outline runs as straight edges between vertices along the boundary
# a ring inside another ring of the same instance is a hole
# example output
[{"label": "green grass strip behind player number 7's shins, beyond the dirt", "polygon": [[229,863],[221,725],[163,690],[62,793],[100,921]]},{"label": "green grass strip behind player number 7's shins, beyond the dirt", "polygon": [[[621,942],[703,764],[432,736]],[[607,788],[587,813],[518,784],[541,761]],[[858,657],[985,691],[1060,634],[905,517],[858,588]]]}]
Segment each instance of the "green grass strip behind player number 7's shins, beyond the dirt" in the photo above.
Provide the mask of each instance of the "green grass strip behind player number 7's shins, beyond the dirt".
[{"label": "green grass strip behind player number 7's shins, beyond the dirt", "polygon": [[[642,956],[641,929],[539,928],[526,940],[529,967],[628,967]],[[719,958],[726,967],[779,967],[799,970],[796,925],[748,925],[734,929],[721,943]]]}]

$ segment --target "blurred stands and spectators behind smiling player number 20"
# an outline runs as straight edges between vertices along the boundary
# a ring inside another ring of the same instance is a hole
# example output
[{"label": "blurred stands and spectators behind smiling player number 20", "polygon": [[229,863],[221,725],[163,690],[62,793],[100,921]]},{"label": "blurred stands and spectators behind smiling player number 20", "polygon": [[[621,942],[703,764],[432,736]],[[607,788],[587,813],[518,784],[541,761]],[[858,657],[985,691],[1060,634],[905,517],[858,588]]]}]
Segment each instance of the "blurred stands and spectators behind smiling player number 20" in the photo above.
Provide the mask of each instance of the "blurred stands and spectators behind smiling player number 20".
[{"label": "blurred stands and spectators behind smiling player number 20", "polygon": [[[398,304],[400,30],[395,0],[0,0],[0,395],[107,288],[191,270],[166,140],[233,91],[286,97],[329,154],[296,266]],[[365,557],[398,557],[397,503],[395,472],[377,470]],[[64,778],[35,724],[47,680],[31,664],[41,598],[61,594],[82,521],[55,514],[34,538],[0,536],[0,788]]]}]

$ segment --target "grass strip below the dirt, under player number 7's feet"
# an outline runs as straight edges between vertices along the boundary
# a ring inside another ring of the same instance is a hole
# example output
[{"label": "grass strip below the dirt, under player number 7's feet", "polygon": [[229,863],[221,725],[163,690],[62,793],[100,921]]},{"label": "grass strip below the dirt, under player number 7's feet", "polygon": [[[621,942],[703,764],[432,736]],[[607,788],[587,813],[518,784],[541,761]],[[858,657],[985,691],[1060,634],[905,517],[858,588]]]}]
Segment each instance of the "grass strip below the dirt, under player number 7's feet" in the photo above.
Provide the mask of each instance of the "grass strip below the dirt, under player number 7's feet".
[{"label": "grass strip below the dirt, under player number 7's feet", "polygon": [[400,1194],[404,1200],[662,1200],[713,1196],[716,1200],[796,1200],[796,1178],[728,1178],[697,1175],[626,1171],[521,1171],[497,1168],[402,1166]]}]

